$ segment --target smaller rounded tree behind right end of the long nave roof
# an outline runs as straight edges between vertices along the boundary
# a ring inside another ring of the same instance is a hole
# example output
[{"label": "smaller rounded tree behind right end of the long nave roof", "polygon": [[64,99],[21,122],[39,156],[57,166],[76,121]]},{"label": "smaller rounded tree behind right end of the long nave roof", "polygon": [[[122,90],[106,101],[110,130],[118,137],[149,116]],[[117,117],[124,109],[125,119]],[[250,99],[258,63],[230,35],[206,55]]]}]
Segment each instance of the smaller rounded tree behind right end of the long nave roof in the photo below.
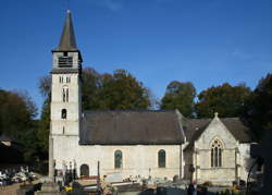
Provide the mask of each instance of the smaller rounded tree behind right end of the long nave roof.
[{"label": "smaller rounded tree behind right end of the long nave roof", "polygon": [[178,109],[185,117],[194,117],[196,89],[190,82],[171,82],[161,100],[161,109]]}]

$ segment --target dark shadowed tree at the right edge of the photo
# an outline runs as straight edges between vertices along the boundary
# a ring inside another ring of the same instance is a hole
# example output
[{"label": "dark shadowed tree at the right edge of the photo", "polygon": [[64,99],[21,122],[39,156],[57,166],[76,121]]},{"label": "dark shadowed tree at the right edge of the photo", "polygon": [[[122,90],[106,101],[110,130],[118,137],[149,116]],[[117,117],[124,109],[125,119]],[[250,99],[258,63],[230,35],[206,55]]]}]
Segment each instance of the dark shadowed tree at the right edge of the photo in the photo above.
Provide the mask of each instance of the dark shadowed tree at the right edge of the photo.
[{"label": "dark shadowed tree at the right edge of the photo", "polygon": [[272,131],[272,74],[259,81],[245,112],[245,119],[257,138]]}]

